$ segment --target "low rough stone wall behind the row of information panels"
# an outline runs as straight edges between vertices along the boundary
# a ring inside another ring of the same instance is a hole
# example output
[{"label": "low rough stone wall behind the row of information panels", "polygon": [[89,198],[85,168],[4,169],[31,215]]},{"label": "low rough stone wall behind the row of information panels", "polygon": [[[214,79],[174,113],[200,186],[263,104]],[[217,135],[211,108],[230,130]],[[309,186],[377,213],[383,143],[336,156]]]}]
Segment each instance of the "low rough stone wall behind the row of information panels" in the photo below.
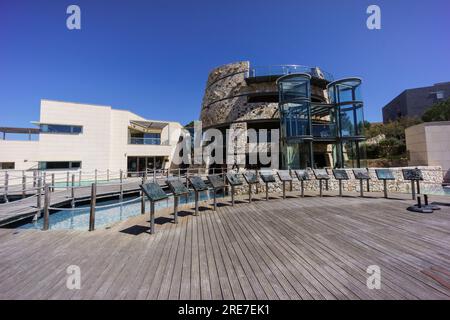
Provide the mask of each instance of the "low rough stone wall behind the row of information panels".
[{"label": "low rough stone wall behind the row of information panels", "polygon": [[[439,188],[442,185],[444,172],[442,171],[441,167],[418,167],[419,169],[422,169],[422,174],[424,180],[420,182],[421,191],[422,193],[431,191],[433,188]],[[370,180],[370,191],[371,192],[383,192],[383,181],[378,180],[376,173],[376,168],[369,168],[369,175],[371,177]],[[411,193],[411,182],[403,180],[402,175],[402,169],[404,168],[391,168],[391,170],[394,173],[395,180],[388,181],[387,182],[387,188],[388,192],[397,192],[397,193]],[[338,191],[339,190],[339,182],[336,180],[331,172],[329,171],[329,175],[331,179],[328,181],[328,188],[331,191]],[[346,169],[347,174],[350,178],[350,180],[343,181],[342,183],[342,190],[343,193],[345,192],[359,192],[360,183],[359,180],[356,180],[352,169]],[[269,184],[269,194],[270,193],[281,193],[283,191],[283,184],[278,179],[278,176],[276,174],[276,170],[273,171],[274,175],[276,177],[277,182],[276,183],[270,183]],[[314,177],[314,174],[310,172],[310,177]],[[305,181],[304,183],[305,190],[312,190],[319,192],[319,181],[312,178],[312,180]],[[367,187],[366,182],[364,182],[364,188]],[[259,191],[265,192],[265,184],[260,181]],[[325,190],[325,183],[322,185],[323,190]],[[301,183],[298,181],[295,177],[293,178],[292,183],[292,189],[295,191],[301,190]],[[286,184],[286,191],[289,191],[289,183]],[[248,194],[248,186],[243,185],[240,187],[236,187],[235,189],[236,194]],[[253,189],[253,193],[255,190]],[[366,192],[366,189],[364,189],[364,192]]]}]

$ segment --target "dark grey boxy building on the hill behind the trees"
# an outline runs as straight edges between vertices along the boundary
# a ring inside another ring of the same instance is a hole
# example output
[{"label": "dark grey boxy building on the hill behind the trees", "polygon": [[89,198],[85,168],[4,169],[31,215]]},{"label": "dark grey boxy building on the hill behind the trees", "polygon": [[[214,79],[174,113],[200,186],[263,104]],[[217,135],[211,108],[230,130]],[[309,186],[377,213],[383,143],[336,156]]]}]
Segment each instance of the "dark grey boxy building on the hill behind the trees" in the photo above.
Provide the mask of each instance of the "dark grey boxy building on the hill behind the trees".
[{"label": "dark grey boxy building on the hill behind the trees", "polygon": [[420,118],[433,104],[449,97],[450,82],[407,89],[383,107],[383,122],[388,123],[401,117]]}]

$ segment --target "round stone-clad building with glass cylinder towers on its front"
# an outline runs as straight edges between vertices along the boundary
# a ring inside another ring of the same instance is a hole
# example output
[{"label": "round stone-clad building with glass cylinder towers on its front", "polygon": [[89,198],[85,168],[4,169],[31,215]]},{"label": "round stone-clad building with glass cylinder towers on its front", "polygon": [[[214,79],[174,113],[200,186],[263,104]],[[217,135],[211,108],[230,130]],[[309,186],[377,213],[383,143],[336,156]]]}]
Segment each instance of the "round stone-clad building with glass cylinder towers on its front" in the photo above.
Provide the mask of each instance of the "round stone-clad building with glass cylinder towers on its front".
[{"label": "round stone-clad building with glass cylinder towers on its front", "polygon": [[[209,74],[200,118],[203,129],[224,134],[229,128],[279,129],[282,168],[360,167],[365,164],[360,88],[361,79],[335,81],[318,67],[236,62]],[[256,167],[263,166],[258,161]]]}]

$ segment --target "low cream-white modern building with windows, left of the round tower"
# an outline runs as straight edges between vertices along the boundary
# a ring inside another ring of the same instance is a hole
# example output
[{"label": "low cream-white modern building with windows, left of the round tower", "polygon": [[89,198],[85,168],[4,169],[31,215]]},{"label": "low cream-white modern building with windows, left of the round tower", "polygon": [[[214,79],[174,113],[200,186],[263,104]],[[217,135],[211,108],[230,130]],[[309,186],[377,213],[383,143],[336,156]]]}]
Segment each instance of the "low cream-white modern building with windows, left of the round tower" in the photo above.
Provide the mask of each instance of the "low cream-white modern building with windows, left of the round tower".
[{"label": "low cream-white modern building with windows, left of the round tower", "polygon": [[[32,123],[36,128],[0,128],[0,169],[169,168],[182,129],[110,106],[51,100],[41,100],[40,119]],[[12,134],[28,139],[9,140]]]}]

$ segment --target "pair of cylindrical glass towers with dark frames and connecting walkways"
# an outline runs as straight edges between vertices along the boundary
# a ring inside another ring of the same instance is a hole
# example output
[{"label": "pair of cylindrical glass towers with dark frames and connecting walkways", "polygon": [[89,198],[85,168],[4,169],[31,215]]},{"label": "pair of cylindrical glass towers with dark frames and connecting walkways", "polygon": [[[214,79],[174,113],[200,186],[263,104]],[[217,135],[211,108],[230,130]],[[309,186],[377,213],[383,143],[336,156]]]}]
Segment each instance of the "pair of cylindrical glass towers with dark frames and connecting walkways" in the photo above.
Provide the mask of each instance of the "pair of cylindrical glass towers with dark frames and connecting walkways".
[{"label": "pair of cylindrical glass towers with dark frames and connecting walkways", "polygon": [[283,169],[360,167],[365,158],[361,79],[327,86],[328,101],[311,101],[311,76],[278,79]]}]

